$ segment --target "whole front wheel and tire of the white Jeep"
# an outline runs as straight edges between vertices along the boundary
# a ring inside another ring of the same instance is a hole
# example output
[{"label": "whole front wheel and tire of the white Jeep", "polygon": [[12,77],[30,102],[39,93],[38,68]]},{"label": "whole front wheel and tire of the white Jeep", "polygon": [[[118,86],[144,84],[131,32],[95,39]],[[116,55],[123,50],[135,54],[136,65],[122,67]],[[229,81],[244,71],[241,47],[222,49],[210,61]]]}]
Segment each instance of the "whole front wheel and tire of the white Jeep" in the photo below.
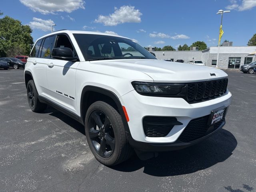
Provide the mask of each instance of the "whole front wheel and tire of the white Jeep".
[{"label": "whole front wheel and tire of the white Jeep", "polygon": [[120,114],[105,102],[96,101],[88,108],[85,134],[95,158],[106,166],[120,164],[132,155]]}]

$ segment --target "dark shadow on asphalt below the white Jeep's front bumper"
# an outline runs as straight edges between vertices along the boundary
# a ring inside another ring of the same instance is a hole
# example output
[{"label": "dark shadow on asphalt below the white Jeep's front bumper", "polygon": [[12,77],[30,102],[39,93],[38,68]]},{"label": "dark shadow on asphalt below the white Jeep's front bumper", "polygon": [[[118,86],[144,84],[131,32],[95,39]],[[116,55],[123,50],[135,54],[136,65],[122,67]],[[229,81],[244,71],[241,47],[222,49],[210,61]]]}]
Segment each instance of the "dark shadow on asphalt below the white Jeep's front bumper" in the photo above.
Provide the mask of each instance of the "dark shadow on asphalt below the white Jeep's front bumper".
[{"label": "dark shadow on asphalt below the white Jeep's front bumper", "polygon": [[228,159],[237,146],[236,138],[227,130],[183,150],[162,152],[157,158],[141,161],[137,156],[111,167],[122,172],[133,172],[144,167],[152,176],[176,176],[194,173]]}]

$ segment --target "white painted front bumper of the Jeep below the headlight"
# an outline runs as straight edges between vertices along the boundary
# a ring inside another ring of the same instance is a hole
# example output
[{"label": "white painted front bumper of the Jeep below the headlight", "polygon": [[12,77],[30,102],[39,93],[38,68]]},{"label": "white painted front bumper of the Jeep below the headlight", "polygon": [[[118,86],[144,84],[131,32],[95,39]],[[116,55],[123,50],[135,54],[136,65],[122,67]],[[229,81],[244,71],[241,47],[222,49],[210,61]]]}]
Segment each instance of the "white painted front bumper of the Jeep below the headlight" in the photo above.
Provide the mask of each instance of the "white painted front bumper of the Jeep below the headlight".
[{"label": "white painted front bumper of the Jeep below the headlight", "polygon": [[[130,119],[128,122],[130,137],[134,142],[148,143],[150,146],[177,144],[187,146],[188,144],[180,144],[178,138],[188,123],[192,119],[209,115],[214,109],[228,107],[231,103],[231,93],[227,90],[227,93],[219,98],[188,104],[182,98],[142,96],[133,90],[120,97],[120,102],[126,107]],[[142,121],[145,116],[175,117],[182,125],[175,125],[164,137],[147,137],[144,133]]]}]

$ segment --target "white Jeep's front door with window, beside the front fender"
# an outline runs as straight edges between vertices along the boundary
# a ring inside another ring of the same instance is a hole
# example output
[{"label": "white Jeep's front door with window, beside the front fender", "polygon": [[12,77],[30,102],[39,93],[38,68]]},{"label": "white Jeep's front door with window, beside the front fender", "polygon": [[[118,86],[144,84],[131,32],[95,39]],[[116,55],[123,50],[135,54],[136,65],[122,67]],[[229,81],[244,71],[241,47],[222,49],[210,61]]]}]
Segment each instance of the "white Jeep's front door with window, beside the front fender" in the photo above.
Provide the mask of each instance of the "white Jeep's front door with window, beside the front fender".
[{"label": "white Jeep's front door with window, beside the front fender", "polygon": [[[76,51],[66,34],[56,37],[54,48],[67,47]],[[48,94],[56,104],[76,113],[75,75],[79,62],[50,59],[47,68]]]}]

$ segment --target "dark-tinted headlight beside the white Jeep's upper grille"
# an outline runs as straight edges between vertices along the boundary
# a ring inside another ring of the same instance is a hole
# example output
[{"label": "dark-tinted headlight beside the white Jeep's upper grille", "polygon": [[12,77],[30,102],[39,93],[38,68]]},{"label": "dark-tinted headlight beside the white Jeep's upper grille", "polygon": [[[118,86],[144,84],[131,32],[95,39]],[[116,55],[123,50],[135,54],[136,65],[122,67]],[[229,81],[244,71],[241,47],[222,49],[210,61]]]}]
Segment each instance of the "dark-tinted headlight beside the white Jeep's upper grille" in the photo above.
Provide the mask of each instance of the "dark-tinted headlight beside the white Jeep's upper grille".
[{"label": "dark-tinted headlight beside the white Jeep's upper grille", "polygon": [[174,96],[182,92],[182,88],[186,86],[184,83],[148,83],[148,82],[132,82],[132,86],[142,95],[152,96]]}]

